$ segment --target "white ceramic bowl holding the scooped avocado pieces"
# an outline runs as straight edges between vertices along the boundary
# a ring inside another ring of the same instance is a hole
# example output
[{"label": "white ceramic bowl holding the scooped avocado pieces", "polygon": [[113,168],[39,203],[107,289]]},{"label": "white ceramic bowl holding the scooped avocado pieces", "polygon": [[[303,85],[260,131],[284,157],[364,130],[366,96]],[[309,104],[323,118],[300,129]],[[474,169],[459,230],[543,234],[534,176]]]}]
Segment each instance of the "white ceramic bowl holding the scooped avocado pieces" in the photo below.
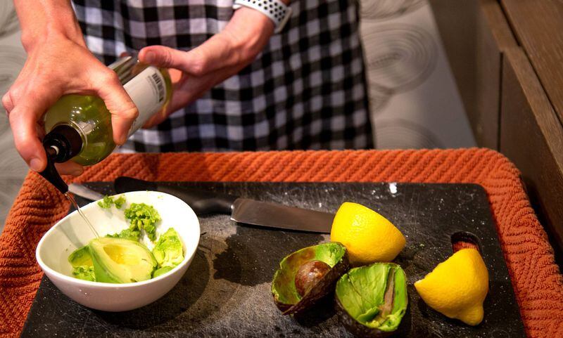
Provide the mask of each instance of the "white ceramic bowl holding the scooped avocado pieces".
[{"label": "white ceramic bowl holding the scooped avocado pieces", "polygon": [[[157,223],[157,238],[168,228],[175,228],[184,245],[184,261],[172,271],[143,282],[111,284],[89,282],[72,277],[68,255],[86,245],[95,235],[75,211],[51,228],[37,245],[35,256],[45,275],[63,294],[78,303],[103,311],[127,311],[150,304],[163,297],[182,278],[199,242],[199,221],[194,211],[179,198],[155,191],[125,193],[127,203],[122,209],[102,209],[97,202],[81,208],[100,236],[118,233],[128,227],[123,211],[131,203],[146,203],[155,207],[162,218]],[[143,242],[149,249],[148,239]]]}]

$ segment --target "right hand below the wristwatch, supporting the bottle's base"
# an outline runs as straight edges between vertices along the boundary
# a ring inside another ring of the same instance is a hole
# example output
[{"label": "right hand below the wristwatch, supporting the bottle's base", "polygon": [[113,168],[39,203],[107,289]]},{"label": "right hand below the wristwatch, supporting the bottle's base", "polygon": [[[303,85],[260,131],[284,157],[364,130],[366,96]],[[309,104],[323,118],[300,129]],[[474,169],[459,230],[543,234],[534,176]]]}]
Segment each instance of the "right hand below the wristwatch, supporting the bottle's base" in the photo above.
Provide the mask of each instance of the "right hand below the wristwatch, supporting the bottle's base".
[{"label": "right hand below the wristwatch, supporting the bottle's base", "polygon": [[167,108],[151,117],[145,127],[163,122],[172,112],[189,105],[205,91],[252,63],[273,33],[274,24],[270,18],[243,7],[234,11],[224,30],[191,51],[165,46],[141,49],[141,62],[170,68],[174,89]]}]

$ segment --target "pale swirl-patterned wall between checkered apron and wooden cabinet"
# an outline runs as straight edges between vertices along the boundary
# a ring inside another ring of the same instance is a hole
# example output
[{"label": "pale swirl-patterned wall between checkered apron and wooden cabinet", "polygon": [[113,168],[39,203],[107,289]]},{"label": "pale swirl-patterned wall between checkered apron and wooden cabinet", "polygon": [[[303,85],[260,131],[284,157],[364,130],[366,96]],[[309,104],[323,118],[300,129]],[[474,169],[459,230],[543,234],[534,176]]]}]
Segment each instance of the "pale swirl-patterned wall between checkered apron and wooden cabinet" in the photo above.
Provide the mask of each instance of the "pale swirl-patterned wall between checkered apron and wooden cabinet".
[{"label": "pale swirl-patterned wall between checkered apron and wooden cabinet", "polygon": [[475,145],[426,0],[362,0],[377,148]]}]

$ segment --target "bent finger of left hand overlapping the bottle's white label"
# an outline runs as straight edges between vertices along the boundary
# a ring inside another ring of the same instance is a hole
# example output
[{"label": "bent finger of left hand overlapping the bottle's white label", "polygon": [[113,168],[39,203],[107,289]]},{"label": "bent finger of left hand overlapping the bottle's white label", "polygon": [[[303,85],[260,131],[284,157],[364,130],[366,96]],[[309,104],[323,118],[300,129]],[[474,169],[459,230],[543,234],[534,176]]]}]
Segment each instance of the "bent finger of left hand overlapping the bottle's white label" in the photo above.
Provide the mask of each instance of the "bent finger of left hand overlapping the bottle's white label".
[{"label": "bent finger of left hand overlapping the bottle's white label", "polygon": [[94,90],[106,103],[106,107],[111,113],[113,141],[122,145],[127,141],[127,133],[137,119],[139,111],[129,94],[123,89],[115,72],[103,70],[96,79],[97,81],[92,83]]}]

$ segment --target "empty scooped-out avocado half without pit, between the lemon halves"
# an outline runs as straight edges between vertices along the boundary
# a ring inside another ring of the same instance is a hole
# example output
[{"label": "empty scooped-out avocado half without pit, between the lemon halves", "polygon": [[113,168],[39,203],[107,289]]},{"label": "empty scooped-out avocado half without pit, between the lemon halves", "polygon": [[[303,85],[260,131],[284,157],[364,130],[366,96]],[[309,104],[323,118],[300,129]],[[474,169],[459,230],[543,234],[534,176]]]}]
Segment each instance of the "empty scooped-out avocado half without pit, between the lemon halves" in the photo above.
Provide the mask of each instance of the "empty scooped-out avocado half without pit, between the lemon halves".
[{"label": "empty scooped-out avocado half without pit, between the lemon halves", "polygon": [[407,311],[407,277],[393,263],[353,268],[336,282],[336,311],[358,337],[393,334]]}]

